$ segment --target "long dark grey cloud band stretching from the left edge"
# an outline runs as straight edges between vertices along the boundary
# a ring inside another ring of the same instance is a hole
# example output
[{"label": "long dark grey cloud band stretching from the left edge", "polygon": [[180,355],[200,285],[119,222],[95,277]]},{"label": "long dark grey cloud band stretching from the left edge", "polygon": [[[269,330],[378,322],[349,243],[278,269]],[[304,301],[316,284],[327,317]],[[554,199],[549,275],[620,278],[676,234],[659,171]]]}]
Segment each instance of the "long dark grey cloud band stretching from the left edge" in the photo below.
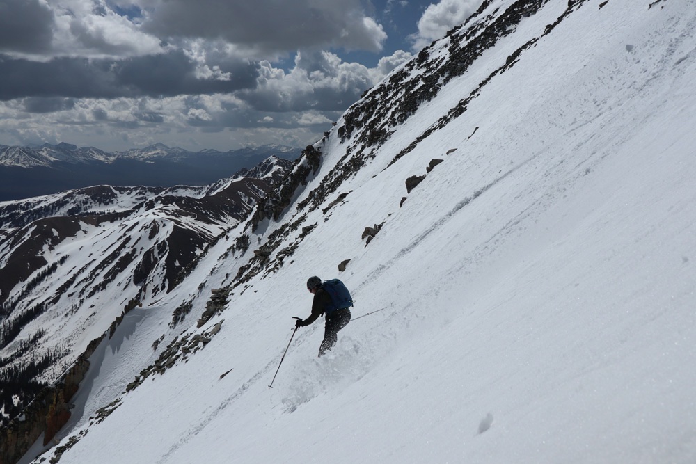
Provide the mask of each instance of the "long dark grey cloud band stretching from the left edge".
[{"label": "long dark grey cloud band stretching from the left edge", "polygon": [[255,86],[249,63],[219,65],[228,80],[199,79],[182,51],[120,61],[54,58],[45,63],[0,56],[0,100],[22,97],[162,97],[228,93]]}]

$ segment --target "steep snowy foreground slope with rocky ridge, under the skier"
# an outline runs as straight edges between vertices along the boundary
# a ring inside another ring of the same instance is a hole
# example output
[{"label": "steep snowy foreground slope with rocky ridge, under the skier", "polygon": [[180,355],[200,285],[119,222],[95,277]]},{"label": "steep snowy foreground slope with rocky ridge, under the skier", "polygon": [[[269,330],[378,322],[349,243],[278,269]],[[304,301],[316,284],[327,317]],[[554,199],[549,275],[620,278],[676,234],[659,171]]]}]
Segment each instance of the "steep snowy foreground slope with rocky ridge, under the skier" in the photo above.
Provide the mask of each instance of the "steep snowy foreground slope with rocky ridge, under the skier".
[{"label": "steep snowy foreground slope with rocky ridge, under the skier", "polygon": [[[693,462],[695,7],[483,1],[84,330],[3,452],[35,415],[20,462]],[[355,301],[319,359],[311,275]]]}]

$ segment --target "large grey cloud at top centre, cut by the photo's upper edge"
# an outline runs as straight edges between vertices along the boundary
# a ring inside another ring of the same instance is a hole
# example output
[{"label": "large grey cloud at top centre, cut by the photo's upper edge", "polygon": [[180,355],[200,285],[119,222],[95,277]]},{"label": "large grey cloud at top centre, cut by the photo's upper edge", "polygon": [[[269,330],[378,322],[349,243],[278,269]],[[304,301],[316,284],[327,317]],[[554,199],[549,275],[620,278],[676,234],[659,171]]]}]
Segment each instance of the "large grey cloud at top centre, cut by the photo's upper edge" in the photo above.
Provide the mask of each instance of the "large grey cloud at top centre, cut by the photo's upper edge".
[{"label": "large grey cloud at top centre, cut by the photo's upper edge", "polygon": [[160,37],[223,38],[262,51],[334,45],[377,51],[386,38],[360,0],[155,1],[143,30]]}]

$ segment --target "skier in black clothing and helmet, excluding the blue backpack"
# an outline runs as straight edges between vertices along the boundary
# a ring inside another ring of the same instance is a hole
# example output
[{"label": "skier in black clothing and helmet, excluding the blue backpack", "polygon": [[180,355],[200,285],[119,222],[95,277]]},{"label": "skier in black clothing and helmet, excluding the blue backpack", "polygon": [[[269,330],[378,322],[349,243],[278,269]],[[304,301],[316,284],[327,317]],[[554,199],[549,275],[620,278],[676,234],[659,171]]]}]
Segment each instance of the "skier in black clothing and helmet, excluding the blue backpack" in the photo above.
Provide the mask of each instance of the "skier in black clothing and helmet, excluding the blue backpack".
[{"label": "skier in black clothing and helmet, excluding the blue backpack", "polygon": [[312,314],[307,319],[296,318],[295,327],[308,326],[316,321],[319,316],[326,313],[324,340],[322,340],[322,344],[319,346],[319,358],[321,358],[327,350],[331,351],[336,342],[338,342],[338,331],[350,322],[350,309],[349,307],[335,307],[329,291],[324,289],[324,282],[316,275],[307,280],[307,289],[311,294],[314,294]]}]

